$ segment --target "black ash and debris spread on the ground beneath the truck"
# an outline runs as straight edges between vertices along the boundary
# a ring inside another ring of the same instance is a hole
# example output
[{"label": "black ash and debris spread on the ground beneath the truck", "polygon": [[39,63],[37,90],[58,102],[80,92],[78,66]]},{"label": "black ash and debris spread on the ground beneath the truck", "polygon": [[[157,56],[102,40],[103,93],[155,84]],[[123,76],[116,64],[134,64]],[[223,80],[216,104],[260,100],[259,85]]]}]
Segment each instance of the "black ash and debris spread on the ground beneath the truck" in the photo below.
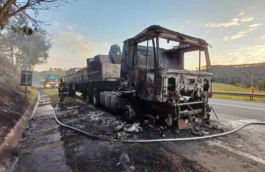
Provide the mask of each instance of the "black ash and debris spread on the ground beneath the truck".
[{"label": "black ash and debris spread on the ground beneath the truck", "polygon": [[148,120],[127,123],[121,116],[111,114],[93,106],[61,107],[56,116],[59,121],[91,134],[109,139],[169,139],[181,137],[197,137],[228,131],[224,123],[211,120],[206,124],[200,119],[192,122],[182,120],[179,128],[164,125],[153,127]]}]

